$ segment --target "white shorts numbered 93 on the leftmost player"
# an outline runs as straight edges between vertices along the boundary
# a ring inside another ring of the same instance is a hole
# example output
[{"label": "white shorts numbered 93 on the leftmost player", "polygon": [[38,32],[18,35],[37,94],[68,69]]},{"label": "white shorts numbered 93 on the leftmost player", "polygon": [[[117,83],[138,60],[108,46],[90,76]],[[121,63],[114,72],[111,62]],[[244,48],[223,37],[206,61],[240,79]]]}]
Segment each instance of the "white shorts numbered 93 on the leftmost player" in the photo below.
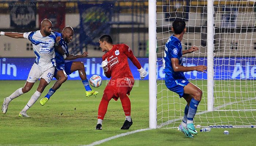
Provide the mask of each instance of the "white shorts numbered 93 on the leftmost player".
[{"label": "white shorts numbered 93 on the leftmost player", "polygon": [[49,84],[50,81],[52,81],[54,70],[55,67],[42,68],[37,64],[33,64],[32,68],[30,69],[29,76],[27,77],[27,81],[35,82],[39,78],[43,78]]}]

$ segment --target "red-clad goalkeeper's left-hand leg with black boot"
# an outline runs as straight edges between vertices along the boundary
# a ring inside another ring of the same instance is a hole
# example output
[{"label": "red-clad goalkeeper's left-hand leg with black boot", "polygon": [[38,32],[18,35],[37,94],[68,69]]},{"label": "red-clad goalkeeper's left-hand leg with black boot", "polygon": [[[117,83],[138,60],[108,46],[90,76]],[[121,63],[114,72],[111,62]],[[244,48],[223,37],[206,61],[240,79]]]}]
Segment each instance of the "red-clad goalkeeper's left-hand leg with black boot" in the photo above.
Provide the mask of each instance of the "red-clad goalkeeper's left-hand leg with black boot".
[{"label": "red-clad goalkeeper's left-hand leg with black boot", "polygon": [[98,122],[95,128],[96,130],[102,130],[102,121],[108,110],[109,101],[112,99],[113,96],[114,96],[114,92],[111,89],[108,89],[108,86],[107,86],[106,89],[104,90],[101,102],[99,103]]}]

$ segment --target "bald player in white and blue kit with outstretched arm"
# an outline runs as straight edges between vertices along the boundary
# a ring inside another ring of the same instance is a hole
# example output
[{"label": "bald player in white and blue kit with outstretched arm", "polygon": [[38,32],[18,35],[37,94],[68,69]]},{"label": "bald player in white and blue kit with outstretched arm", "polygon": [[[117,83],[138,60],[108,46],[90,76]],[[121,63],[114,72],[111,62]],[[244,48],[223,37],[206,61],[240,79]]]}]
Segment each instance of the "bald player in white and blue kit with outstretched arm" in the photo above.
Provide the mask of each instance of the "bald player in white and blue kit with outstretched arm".
[{"label": "bald player in white and blue kit with outstretched arm", "polygon": [[[29,117],[26,113],[27,110],[37,101],[45,87],[53,78],[56,66],[54,45],[59,44],[60,37],[57,37],[56,34],[52,32],[52,22],[50,22],[48,19],[42,20],[41,29],[38,31],[26,33],[1,31],[0,35],[6,35],[11,38],[26,38],[33,44],[36,59],[32,68],[30,69],[26,84],[23,88],[17,89],[9,97],[6,97],[2,106],[2,112],[5,114],[8,109],[8,104],[16,97],[19,97],[23,93],[29,92],[35,81],[40,78],[37,91],[35,91],[29,102],[19,113],[20,117]],[[60,53],[63,53],[63,50],[59,49],[59,51]]]}]

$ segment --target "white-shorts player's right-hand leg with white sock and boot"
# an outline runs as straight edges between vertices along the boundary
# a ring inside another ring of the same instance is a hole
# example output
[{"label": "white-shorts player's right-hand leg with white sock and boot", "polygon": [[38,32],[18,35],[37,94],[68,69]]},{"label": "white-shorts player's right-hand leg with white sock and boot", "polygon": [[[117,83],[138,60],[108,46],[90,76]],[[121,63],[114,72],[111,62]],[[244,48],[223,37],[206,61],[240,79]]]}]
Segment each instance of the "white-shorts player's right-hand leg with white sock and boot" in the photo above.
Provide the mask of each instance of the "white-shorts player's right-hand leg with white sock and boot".
[{"label": "white-shorts player's right-hand leg with white sock and boot", "polygon": [[41,78],[37,91],[35,91],[35,93],[31,96],[29,102],[27,102],[22,111],[20,111],[19,117],[30,117],[27,115],[27,110],[29,110],[29,108],[38,100],[38,98],[41,96],[42,92],[48,84],[49,83],[45,81],[44,78]]}]

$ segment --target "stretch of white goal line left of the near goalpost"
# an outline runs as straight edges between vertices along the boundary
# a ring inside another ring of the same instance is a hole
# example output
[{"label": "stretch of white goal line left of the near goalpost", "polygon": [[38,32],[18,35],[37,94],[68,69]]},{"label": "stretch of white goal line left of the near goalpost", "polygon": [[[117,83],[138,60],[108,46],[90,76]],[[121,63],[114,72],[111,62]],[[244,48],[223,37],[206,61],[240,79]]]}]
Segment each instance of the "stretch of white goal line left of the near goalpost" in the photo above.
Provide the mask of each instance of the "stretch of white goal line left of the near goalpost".
[{"label": "stretch of white goal line left of the near goalpost", "polygon": [[131,132],[126,132],[126,133],[122,133],[122,134],[118,134],[118,135],[115,135],[113,137],[109,137],[109,138],[106,138],[106,139],[102,139],[100,141],[95,141],[89,145],[82,145],[82,146],[95,146],[95,145],[99,145],[103,142],[107,142],[107,141],[110,141],[112,139],[116,139],[116,138],[119,138],[119,137],[124,137],[126,135],[129,135],[129,134],[133,134],[133,133],[137,133],[137,132],[141,132],[141,131],[146,131],[146,130],[150,130],[151,128],[146,128],[146,129],[139,129],[139,130],[135,130],[135,131],[131,131]]}]

